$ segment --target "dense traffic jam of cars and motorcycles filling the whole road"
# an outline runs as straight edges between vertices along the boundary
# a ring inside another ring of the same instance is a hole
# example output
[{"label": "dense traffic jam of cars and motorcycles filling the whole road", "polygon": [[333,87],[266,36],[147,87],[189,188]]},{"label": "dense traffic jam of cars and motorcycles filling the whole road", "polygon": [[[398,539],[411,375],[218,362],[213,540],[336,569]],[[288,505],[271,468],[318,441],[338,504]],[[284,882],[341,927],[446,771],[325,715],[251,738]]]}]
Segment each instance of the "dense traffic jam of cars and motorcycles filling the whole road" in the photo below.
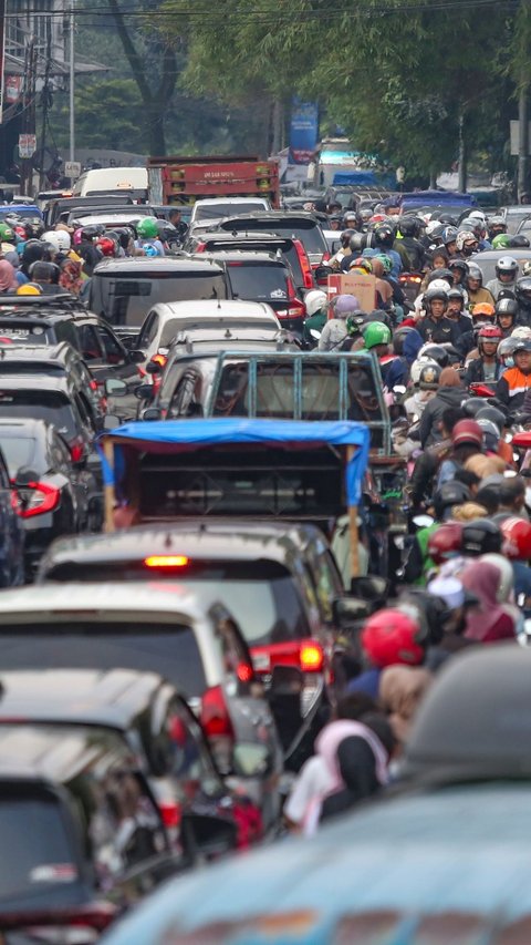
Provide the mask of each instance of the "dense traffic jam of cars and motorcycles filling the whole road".
[{"label": "dense traffic jam of cars and motorcycles filling the whole road", "polygon": [[531,206],[0,205],[1,945],[531,942]]}]

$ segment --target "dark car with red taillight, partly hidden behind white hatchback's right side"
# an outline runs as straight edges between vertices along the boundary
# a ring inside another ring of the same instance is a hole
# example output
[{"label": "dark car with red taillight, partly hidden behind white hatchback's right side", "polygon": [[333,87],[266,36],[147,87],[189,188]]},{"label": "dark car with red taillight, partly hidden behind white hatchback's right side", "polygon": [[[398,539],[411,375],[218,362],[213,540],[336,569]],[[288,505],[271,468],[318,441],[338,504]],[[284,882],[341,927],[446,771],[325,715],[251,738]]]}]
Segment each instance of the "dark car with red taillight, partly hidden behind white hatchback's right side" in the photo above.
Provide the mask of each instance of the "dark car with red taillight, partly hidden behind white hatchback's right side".
[{"label": "dark car with red taillight, partly hidden behind white hatchback's right side", "polygon": [[195,258],[211,259],[225,269],[231,298],[270,306],[283,328],[302,336],[306,308],[282,258],[273,253],[239,249],[200,254]]}]

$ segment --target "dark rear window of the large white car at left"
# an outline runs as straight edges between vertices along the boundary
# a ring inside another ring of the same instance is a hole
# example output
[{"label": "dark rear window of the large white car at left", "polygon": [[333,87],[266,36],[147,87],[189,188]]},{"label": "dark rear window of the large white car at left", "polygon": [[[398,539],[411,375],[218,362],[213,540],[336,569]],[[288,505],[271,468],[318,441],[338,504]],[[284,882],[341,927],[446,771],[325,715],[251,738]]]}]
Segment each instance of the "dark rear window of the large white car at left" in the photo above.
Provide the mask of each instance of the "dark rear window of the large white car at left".
[{"label": "dark rear window of the large white car at left", "polygon": [[[108,568],[106,576],[108,579]],[[153,579],[153,573],[147,575]],[[31,637],[31,645],[28,638]],[[61,620],[0,625],[3,669],[135,669],[158,672],[187,696],[206,688],[194,630],[136,620]]]}]

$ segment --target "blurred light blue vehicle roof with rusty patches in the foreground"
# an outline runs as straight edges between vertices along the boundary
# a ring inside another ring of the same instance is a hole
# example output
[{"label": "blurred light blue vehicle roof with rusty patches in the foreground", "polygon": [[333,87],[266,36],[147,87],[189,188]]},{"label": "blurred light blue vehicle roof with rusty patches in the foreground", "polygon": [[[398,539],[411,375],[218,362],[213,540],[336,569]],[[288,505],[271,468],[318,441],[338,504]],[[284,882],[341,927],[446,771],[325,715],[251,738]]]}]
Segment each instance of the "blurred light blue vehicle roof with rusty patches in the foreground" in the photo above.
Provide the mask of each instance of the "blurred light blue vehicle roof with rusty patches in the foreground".
[{"label": "blurred light blue vehicle roof with rusty patches in the foreground", "polygon": [[106,945],[529,945],[527,781],[408,790],[169,882]]}]

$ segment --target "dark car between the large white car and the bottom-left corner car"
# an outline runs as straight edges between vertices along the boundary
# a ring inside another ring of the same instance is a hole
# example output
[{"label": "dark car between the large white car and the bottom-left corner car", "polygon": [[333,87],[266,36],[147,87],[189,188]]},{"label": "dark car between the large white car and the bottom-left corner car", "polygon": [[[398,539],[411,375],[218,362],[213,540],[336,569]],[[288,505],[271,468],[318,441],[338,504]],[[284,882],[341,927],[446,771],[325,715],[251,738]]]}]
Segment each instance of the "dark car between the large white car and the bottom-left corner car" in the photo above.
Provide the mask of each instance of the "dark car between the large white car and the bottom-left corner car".
[{"label": "dark car between the large white car and the bottom-left corner car", "polygon": [[176,852],[187,845],[180,830],[186,814],[206,816],[212,852],[217,824],[208,819],[223,818],[236,825],[237,795],[223,783],[186,700],[158,674],[23,669],[2,672],[0,685],[0,741],[12,726],[20,726],[21,739],[28,730],[64,739],[90,730],[94,741],[105,733],[117,736],[147,779]]}]

